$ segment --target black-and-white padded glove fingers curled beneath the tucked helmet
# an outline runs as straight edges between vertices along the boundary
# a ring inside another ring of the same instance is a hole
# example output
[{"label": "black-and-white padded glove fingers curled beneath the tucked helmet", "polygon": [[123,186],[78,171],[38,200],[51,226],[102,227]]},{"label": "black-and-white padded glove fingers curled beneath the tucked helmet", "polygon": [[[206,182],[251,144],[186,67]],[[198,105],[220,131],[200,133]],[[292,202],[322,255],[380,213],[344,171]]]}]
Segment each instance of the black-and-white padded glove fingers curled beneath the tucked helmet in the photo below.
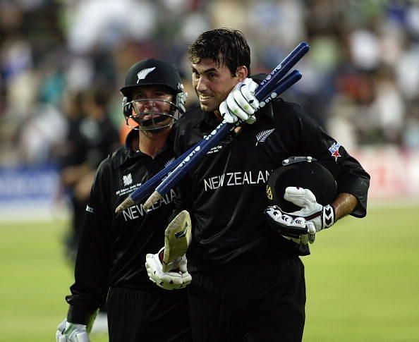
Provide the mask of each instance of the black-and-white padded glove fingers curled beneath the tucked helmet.
[{"label": "black-and-white padded glove fingers curled beneath the tucked helmet", "polygon": [[277,205],[267,207],[265,209],[265,217],[269,225],[284,238],[298,245],[307,245],[315,242],[315,225],[310,221],[305,221],[303,217],[293,217],[291,214],[282,211]]}]

